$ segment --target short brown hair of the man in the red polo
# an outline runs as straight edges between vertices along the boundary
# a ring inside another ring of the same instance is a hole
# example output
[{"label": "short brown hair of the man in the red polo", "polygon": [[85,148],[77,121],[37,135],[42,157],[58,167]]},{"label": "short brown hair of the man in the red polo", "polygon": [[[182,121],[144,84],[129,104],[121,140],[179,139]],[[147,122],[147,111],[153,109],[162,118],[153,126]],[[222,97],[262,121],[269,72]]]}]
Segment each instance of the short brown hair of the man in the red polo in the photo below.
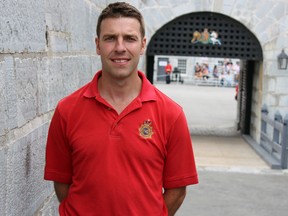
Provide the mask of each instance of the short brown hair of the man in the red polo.
[{"label": "short brown hair of the man in the red polo", "polygon": [[97,28],[96,33],[97,37],[100,36],[100,27],[101,23],[104,19],[107,18],[120,18],[120,17],[129,17],[129,18],[135,18],[140,23],[140,32],[141,36],[145,36],[145,25],[144,25],[144,19],[142,14],[139,10],[137,10],[132,5],[126,3],[126,2],[115,2],[109,4],[100,14],[97,22]]}]

